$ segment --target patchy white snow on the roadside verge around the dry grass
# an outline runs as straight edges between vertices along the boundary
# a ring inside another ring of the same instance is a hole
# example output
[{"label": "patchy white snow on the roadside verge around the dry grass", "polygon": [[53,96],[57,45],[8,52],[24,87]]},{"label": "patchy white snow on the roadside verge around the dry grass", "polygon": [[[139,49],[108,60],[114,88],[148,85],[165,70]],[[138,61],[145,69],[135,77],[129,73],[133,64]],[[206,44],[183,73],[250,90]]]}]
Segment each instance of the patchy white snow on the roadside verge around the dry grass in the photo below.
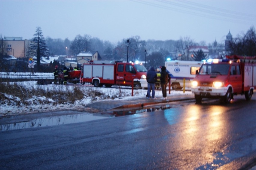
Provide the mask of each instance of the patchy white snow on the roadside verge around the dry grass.
[{"label": "patchy white snow on the roadside verge around the dry grass", "polygon": [[[38,85],[36,81],[29,82],[16,82],[20,86],[28,88],[28,92],[30,88],[41,88],[47,91],[55,90],[56,88],[61,88],[61,90],[73,90],[75,87],[80,88],[81,91],[92,91],[99,92],[103,94],[103,96],[88,96],[84,95],[81,100],[76,100],[74,103],[65,103],[65,104],[56,104],[54,99],[47,98],[45,96],[32,96],[32,98],[26,100],[26,104],[21,102],[21,99],[16,96],[11,96],[7,94],[3,94],[5,99],[0,99],[0,117],[1,116],[11,116],[16,114],[30,114],[37,112],[46,112],[46,111],[61,111],[61,110],[76,110],[76,111],[86,111],[85,105],[103,101],[103,100],[131,100],[138,97],[145,97],[147,94],[147,90],[139,89],[134,90],[133,96],[131,96],[131,87],[126,88],[105,88],[105,87],[92,87],[90,85],[81,85],[81,84],[69,84],[68,86],[64,85]],[[31,92],[32,93],[32,92]],[[172,91],[171,96],[181,95],[181,94],[191,94],[190,91],[186,91],[183,93],[182,91]],[[168,94],[168,96],[170,96]],[[155,96],[157,98],[162,97],[162,91],[156,90]],[[64,96],[65,97],[65,96]],[[8,100],[7,100],[8,99]]]}]

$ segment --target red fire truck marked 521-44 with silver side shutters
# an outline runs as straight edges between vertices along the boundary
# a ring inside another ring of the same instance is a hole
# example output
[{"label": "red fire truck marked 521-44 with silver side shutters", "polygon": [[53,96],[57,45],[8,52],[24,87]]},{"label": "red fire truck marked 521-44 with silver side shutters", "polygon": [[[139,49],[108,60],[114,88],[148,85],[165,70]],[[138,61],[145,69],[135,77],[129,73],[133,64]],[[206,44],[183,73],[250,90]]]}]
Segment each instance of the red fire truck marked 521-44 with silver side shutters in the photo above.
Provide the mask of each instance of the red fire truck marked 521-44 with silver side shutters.
[{"label": "red fire truck marked 521-44 with silver side shutters", "polygon": [[147,69],[142,64],[118,61],[90,61],[83,65],[83,82],[94,87],[112,85],[147,88]]}]

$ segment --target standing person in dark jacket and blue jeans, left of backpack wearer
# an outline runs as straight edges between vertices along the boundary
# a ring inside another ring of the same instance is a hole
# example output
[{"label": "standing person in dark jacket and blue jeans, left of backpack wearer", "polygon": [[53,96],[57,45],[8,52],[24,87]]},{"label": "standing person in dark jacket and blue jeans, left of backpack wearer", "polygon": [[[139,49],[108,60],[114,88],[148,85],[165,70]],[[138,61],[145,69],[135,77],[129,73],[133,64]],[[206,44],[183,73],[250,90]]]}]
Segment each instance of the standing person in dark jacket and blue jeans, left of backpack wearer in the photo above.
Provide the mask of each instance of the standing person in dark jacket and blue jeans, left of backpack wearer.
[{"label": "standing person in dark jacket and blue jeans, left of backpack wearer", "polygon": [[154,67],[150,67],[149,71],[147,72],[147,82],[148,82],[148,93],[147,98],[150,98],[150,91],[152,89],[152,99],[155,98],[155,82],[157,79],[157,72],[155,71]]}]

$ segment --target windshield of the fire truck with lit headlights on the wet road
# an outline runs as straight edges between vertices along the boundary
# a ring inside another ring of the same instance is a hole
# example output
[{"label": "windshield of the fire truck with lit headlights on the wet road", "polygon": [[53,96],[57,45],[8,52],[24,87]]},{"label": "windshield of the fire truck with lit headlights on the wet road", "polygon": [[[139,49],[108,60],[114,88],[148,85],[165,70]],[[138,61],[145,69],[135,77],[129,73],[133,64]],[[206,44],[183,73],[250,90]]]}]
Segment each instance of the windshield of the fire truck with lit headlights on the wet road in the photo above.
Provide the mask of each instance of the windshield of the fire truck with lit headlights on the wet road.
[{"label": "windshield of the fire truck with lit headlights on the wet road", "polygon": [[220,74],[227,75],[229,70],[229,64],[203,64],[198,74]]}]

